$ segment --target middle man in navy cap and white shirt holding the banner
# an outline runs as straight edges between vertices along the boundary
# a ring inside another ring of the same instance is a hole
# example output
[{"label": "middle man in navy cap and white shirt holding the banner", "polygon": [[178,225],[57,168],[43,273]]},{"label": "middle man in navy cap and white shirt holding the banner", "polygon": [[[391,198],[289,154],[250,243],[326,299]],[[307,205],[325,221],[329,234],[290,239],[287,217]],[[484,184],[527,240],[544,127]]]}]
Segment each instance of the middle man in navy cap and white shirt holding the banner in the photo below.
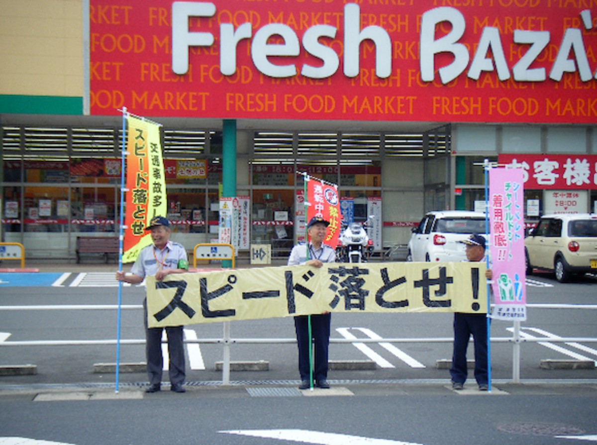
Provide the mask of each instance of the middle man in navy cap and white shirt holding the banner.
[{"label": "middle man in navy cap and white shirt holding the banner", "polygon": [[[288,258],[288,265],[309,264],[321,267],[324,262],[336,262],[336,251],[324,244],[329,221],[321,217],[313,217],[307,224],[310,242],[294,246]],[[307,261],[307,252],[309,259]],[[331,314],[313,314],[311,317],[311,335],[315,354],[313,360],[313,379],[318,388],[330,388],[328,384],[328,348],[330,347]],[[300,373],[300,390],[306,390],[310,384],[309,348],[309,316],[294,317],[294,327],[298,343],[298,372]]]}]

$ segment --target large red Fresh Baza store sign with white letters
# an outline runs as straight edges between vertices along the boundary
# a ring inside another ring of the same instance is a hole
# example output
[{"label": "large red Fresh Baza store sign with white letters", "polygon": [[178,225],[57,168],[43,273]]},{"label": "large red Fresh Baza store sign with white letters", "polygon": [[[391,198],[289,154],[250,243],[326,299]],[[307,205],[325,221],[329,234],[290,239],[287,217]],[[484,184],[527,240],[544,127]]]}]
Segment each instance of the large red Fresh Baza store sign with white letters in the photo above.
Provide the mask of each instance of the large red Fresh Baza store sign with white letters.
[{"label": "large red Fresh Baza store sign with white letters", "polygon": [[91,114],[594,123],[589,3],[90,0]]}]

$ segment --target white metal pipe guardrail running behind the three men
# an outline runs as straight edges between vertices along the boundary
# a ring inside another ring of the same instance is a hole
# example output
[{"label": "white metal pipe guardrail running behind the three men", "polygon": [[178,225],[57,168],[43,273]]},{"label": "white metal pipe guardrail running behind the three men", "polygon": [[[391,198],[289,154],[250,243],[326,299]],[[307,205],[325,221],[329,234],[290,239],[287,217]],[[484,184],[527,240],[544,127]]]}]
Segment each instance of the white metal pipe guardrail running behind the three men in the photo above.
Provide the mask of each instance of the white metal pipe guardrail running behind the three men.
[{"label": "white metal pipe guardrail running behind the three men", "polygon": [[[143,310],[140,304],[121,305],[121,310]],[[597,304],[544,304],[529,303],[527,308],[535,309],[570,309],[587,310],[597,309]],[[36,311],[36,310],[118,310],[116,304],[88,304],[88,305],[13,305],[1,306],[0,311]],[[224,347],[222,384],[230,384],[230,345],[233,344],[296,344],[296,338],[232,338],[230,336],[230,322],[223,322],[222,338],[185,339],[185,344],[221,344]],[[451,343],[453,337],[428,337],[428,338],[330,338],[331,344],[344,343]],[[512,343],[512,382],[520,382],[520,361],[522,343],[567,343],[584,342],[597,343],[595,337],[533,337],[524,338],[521,335],[521,322],[515,321],[511,337],[492,337],[491,343]],[[30,340],[30,341],[4,341],[0,347],[24,347],[24,346],[89,346],[89,345],[116,345],[117,341],[112,339],[103,340]],[[121,345],[143,345],[144,339],[121,339]]]}]

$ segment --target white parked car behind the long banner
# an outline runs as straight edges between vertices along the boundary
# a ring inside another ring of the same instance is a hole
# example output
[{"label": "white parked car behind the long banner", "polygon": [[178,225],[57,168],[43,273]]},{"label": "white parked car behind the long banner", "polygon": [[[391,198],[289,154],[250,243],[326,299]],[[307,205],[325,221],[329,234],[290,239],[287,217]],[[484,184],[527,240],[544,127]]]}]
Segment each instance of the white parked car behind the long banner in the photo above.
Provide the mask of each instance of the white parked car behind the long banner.
[{"label": "white parked car behind the long banner", "polygon": [[413,228],[407,261],[464,261],[464,244],[471,234],[485,234],[485,214],[467,211],[429,212]]}]

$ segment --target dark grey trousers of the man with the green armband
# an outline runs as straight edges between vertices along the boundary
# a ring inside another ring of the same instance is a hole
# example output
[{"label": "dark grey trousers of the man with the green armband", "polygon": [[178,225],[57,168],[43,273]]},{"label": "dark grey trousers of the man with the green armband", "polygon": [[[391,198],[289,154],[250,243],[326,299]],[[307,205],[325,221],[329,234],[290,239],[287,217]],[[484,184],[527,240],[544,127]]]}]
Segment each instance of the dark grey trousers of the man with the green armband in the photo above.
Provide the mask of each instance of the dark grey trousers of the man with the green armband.
[{"label": "dark grey trousers of the man with the green armband", "polygon": [[168,355],[170,364],[168,375],[171,384],[183,384],[186,376],[184,366],[183,327],[147,327],[147,301],[143,301],[145,325],[145,355],[147,358],[147,376],[151,385],[159,385],[162,381],[164,357],[162,357],[162,330],[168,336]]}]

